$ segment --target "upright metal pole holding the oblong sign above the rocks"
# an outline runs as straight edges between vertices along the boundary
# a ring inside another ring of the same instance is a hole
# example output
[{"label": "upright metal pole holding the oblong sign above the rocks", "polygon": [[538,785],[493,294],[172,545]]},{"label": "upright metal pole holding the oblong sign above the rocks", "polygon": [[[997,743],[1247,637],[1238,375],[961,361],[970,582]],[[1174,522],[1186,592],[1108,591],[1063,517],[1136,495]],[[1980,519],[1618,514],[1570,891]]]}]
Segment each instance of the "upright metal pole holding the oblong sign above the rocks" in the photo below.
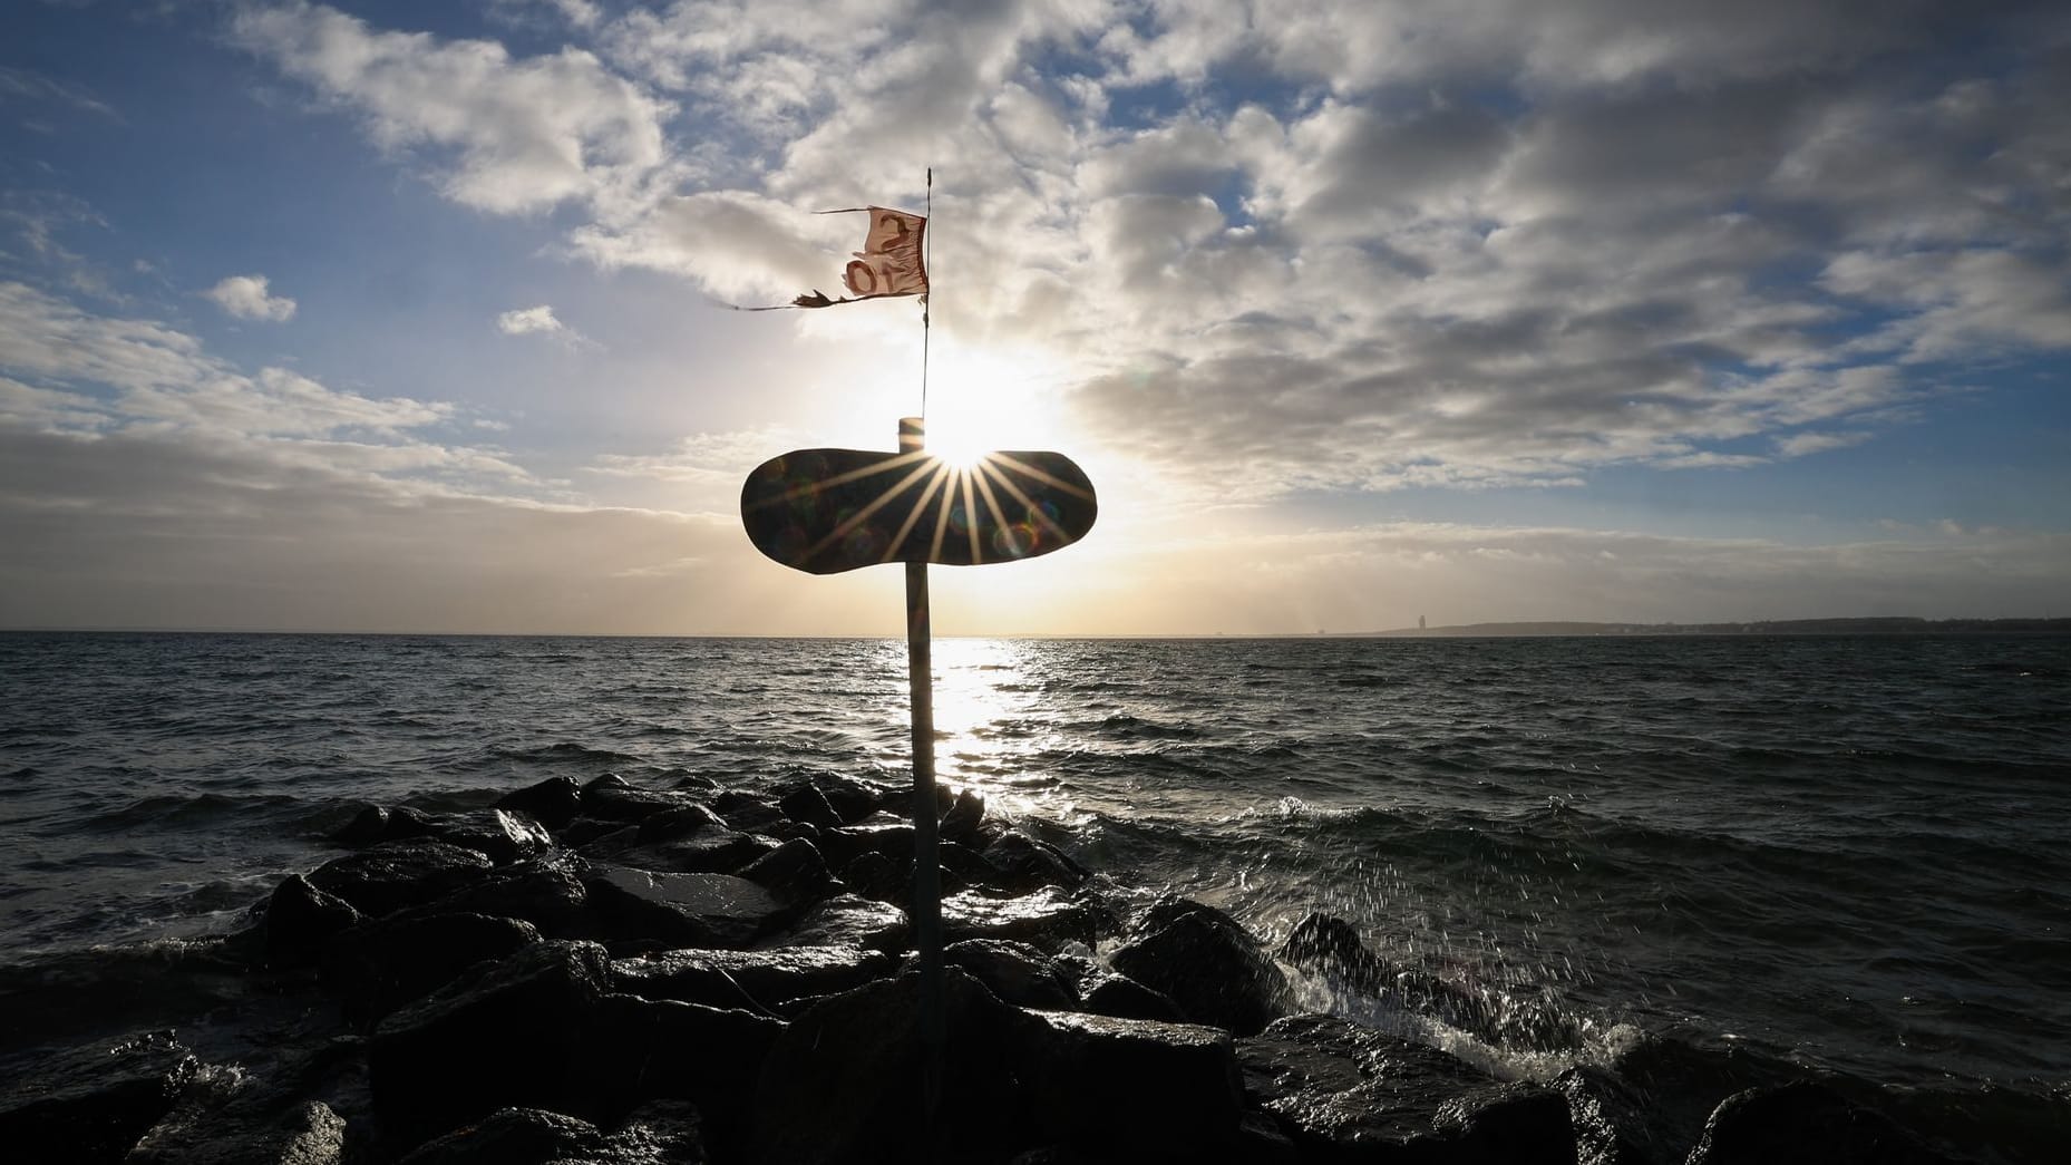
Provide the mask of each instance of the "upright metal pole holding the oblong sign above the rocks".
[{"label": "upright metal pole holding the oblong sign above the rocks", "polygon": [[[899,421],[899,452],[926,446],[926,419]],[[913,707],[913,939],[920,947],[922,1117],[930,1148],[942,1101],[942,869],[934,800],[934,659],[928,622],[928,564],[907,562],[907,697]]]}]

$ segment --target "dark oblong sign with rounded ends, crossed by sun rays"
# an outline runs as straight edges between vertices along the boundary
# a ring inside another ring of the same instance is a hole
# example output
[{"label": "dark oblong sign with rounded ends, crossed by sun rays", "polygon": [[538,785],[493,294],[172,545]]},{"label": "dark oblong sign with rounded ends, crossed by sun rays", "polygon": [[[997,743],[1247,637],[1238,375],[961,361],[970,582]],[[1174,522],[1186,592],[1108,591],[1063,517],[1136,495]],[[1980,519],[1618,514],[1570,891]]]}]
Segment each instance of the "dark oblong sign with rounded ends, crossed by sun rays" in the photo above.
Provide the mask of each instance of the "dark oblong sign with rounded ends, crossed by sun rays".
[{"label": "dark oblong sign with rounded ends, crossed by sun rays", "polygon": [[1019,562],[1083,539],[1098,512],[1093,483],[1069,456],[1023,450],[969,466],[926,450],[797,450],[762,462],[741,487],[756,549],[812,574]]}]

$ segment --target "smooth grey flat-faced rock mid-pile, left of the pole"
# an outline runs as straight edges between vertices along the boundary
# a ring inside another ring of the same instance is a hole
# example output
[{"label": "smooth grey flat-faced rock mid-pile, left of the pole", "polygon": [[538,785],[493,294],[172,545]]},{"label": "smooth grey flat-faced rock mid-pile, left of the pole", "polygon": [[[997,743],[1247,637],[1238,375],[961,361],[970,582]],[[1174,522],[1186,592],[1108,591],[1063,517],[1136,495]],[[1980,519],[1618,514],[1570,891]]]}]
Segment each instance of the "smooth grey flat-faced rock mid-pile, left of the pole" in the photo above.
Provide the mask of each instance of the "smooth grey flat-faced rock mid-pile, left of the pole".
[{"label": "smooth grey flat-faced rock mid-pile, left of the pole", "polygon": [[669,947],[746,947],[787,912],[768,889],[733,875],[596,866],[584,885],[607,937]]}]

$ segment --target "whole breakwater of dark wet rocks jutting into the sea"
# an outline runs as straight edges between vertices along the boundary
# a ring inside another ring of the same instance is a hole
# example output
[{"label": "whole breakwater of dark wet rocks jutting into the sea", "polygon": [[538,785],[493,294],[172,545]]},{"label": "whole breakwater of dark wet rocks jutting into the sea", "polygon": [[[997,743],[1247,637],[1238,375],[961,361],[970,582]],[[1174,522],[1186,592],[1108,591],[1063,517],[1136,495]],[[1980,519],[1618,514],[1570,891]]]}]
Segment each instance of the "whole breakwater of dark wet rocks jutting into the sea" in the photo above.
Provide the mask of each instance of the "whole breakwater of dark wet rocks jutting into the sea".
[{"label": "whole breakwater of dark wet rocks jutting into the sea", "polygon": [[543,782],[468,813],[367,808],[338,835],[348,852],[284,879],[251,931],[209,951],[220,974],[275,1001],[269,1014],[302,1016],[282,1024],[275,1055],[213,1063],[153,1030],[43,1059],[4,1086],[0,1155],[1943,1159],[1872,1105],[1769,1065],[1690,1065],[1657,1049],[1530,1084],[1301,1014],[1292,976],[1394,997],[1487,1039],[1547,1039],[1553,1022],[1394,972],[1336,918],[1311,916],[1267,951],[1199,902],[1127,912],[969,790],[936,806],[949,1043],[930,1124],[903,908],[907,802],[824,775],[760,794],[603,777]]}]

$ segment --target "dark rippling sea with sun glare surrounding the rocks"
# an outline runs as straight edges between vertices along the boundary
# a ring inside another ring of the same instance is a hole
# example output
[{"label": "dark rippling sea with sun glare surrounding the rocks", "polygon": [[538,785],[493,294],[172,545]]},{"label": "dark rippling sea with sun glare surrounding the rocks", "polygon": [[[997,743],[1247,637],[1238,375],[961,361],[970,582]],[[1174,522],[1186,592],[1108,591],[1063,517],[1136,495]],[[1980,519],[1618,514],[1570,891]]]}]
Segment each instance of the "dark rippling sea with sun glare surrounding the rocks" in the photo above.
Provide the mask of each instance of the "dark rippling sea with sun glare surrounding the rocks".
[{"label": "dark rippling sea with sun glare surrounding the rocks", "polygon": [[[940,638],[934,717],[944,782],[1122,904],[1336,914],[1564,1016],[1429,1032],[1512,1074],[1653,1036],[2071,1113],[2071,638]],[[364,804],[905,782],[907,723],[880,638],[0,634],[0,1053]]]}]

